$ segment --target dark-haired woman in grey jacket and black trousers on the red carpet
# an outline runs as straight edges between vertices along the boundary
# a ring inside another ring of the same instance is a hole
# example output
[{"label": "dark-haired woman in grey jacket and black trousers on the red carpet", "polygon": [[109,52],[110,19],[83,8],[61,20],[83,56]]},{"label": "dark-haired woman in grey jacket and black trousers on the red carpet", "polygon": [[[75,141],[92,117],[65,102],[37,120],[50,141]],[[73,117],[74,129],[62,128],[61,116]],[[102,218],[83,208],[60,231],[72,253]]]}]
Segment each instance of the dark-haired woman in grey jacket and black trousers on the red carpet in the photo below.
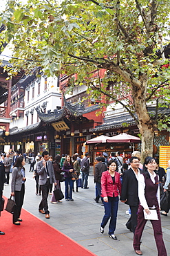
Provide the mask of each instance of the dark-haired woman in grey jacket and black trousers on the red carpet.
[{"label": "dark-haired woman in grey jacket and black trousers on the red carpet", "polygon": [[12,171],[11,196],[14,196],[14,201],[16,203],[13,214],[14,225],[20,225],[20,222],[22,221],[22,219],[20,219],[20,214],[23,205],[26,181],[24,165],[25,159],[23,156],[19,156],[14,163],[14,169]]}]

